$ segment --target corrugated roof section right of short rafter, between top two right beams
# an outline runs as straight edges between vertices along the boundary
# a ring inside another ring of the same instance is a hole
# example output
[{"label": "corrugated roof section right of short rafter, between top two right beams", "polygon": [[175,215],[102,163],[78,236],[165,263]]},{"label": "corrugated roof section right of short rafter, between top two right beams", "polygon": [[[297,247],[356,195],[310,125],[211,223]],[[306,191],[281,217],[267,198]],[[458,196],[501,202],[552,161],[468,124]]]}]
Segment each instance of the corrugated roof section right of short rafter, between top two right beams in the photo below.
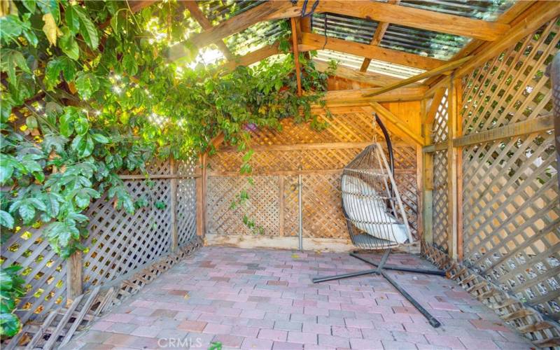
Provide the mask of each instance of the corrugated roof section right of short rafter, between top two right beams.
[{"label": "corrugated roof section right of short rafter, between top two right beams", "polygon": [[379,46],[437,59],[450,59],[469,41],[470,38],[464,36],[391,24]]}]

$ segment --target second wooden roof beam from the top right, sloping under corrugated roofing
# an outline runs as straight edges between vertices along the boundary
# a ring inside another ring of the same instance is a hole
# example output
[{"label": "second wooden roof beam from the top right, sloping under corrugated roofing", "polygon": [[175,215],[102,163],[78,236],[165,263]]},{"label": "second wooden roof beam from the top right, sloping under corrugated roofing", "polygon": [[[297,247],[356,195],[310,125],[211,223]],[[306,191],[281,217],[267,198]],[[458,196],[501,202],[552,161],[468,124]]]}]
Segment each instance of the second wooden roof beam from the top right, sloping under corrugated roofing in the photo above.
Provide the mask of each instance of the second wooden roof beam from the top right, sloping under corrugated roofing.
[{"label": "second wooden roof beam from the top right, sloping under corrugated roofing", "polygon": [[364,43],[354,43],[339,38],[330,38],[326,40],[325,36],[312,33],[302,33],[302,46],[307,50],[321,50],[323,47],[327,50],[349,53],[361,57],[371,59],[379,59],[384,62],[401,64],[403,66],[412,66],[418,69],[435,69],[445,64],[441,59],[414,55],[408,52],[391,50],[388,48],[379,48],[378,46],[367,45]]}]

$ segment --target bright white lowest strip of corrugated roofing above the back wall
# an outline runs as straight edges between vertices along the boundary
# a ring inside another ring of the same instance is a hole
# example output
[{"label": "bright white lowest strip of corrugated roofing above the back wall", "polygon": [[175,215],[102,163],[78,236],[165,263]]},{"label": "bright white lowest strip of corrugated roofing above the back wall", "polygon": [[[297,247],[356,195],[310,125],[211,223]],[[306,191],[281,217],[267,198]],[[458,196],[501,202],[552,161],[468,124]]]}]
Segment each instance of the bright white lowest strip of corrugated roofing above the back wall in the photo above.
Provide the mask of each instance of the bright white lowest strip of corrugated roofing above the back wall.
[{"label": "bright white lowest strip of corrugated roofing above the back wall", "polygon": [[[342,66],[357,70],[360,69],[360,66],[362,66],[363,62],[363,57],[330,50],[318,50],[316,59],[325,62],[328,62],[330,59],[334,59]],[[422,69],[378,61],[377,59],[372,59],[370,66],[367,68],[367,71],[370,73],[380,73],[386,76],[394,76],[395,78],[402,79],[410,78],[411,76],[416,76],[417,74],[423,72]]]}]

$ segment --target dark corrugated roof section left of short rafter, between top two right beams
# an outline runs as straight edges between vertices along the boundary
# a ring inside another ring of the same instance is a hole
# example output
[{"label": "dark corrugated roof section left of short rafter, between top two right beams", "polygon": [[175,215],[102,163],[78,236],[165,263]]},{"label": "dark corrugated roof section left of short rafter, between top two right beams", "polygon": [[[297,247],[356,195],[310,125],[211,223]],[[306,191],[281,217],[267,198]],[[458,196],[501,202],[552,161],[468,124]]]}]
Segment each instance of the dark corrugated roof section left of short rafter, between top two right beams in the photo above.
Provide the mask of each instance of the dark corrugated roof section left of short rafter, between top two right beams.
[{"label": "dark corrugated roof section left of short rafter, between top two right beams", "polygon": [[316,34],[325,34],[357,43],[371,43],[377,22],[333,13],[316,13],[311,18],[311,29]]}]

